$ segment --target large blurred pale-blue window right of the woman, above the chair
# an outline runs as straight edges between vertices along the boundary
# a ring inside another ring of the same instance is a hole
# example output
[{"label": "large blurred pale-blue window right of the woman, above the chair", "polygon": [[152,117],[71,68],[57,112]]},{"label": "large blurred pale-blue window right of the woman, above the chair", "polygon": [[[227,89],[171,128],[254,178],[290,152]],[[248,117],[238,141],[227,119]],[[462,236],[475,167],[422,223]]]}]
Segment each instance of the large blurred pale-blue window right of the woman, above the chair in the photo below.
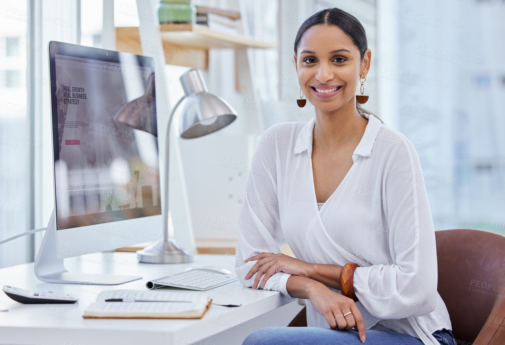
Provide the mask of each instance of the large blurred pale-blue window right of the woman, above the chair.
[{"label": "large blurred pale-blue window right of the woman, above the chair", "polygon": [[[396,128],[415,138],[435,230],[477,228],[505,234],[503,88],[498,87],[502,74],[494,68],[501,61],[493,45],[482,42],[483,37],[503,41],[498,18],[505,7],[483,2],[439,5],[398,2],[408,9],[395,20],[398,62],[388,66],[393,63],[387,60],[379,71],[394,76],[385,87],[397,90],[397,110],[392,111]],[[418,13],[426,16],[420,20]],[[380,39],[384,43],[390,37]]]}]

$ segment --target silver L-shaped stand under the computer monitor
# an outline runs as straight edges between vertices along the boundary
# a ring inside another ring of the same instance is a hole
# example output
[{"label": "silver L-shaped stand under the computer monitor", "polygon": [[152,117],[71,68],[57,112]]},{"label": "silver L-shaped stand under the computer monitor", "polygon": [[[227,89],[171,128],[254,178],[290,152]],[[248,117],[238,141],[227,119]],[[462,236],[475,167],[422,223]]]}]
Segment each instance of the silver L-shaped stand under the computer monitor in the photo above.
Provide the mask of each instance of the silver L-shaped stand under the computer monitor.
[{"label": "silver L-shaped stand under the computer monitor", "polygon": [[56,212],[53,210],[35,259],[35,276],[39,280],[47,283],[117,285],[142,279],[133,275],[71,273],[65,269],[65,259],[59,259],[57,254]]}]

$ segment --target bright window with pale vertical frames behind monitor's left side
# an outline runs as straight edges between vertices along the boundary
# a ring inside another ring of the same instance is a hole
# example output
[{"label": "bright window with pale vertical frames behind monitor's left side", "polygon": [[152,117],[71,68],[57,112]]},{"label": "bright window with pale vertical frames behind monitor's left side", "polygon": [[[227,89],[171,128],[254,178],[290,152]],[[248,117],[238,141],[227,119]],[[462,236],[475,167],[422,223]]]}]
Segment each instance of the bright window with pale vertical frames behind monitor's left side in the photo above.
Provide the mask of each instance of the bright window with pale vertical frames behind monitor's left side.
[{"label": "bright window with pale vertical frames behind monitor's left side", "polygon": [[[0,238],[46,225],[53,209],[47,43],[78,43],[79,0],[0,3]],[[33,260],[30,237],[0,247],[0,267]]]}]

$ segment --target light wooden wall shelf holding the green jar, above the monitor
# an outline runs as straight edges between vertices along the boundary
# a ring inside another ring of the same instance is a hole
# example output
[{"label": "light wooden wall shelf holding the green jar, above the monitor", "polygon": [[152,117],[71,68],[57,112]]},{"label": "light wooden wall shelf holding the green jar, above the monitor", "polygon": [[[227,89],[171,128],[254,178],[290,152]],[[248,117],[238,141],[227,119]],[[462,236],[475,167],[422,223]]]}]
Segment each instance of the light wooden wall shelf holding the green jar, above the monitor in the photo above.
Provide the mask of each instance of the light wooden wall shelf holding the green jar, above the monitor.
[{"label": "light wooden wall shelf holding the green jar, above the monitor", "polygon": [[[208,68],[209,49],[260,48],[276,50],[273,44],[257,42],[240,34],[210,29],[199,24],[161,24],[165,61],[170,65]],[[146,42],[145,49],[149,49]],[[116,50],[142,55],[138,27],[116,28]]]}]

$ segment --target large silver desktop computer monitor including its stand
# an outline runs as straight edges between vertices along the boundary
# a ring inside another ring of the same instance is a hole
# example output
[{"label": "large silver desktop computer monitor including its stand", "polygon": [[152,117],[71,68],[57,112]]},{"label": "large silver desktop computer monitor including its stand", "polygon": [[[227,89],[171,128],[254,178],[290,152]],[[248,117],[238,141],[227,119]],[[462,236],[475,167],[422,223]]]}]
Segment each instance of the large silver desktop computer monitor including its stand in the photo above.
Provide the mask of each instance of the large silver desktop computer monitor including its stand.
[{"label": "large silver desktop computer monitor including its stand", "polygon": [[70,273],[63,259],[161,238],[154,60],[51,41],[49,73],[55,211],[37,277],[90,284],[139,279]]}]

